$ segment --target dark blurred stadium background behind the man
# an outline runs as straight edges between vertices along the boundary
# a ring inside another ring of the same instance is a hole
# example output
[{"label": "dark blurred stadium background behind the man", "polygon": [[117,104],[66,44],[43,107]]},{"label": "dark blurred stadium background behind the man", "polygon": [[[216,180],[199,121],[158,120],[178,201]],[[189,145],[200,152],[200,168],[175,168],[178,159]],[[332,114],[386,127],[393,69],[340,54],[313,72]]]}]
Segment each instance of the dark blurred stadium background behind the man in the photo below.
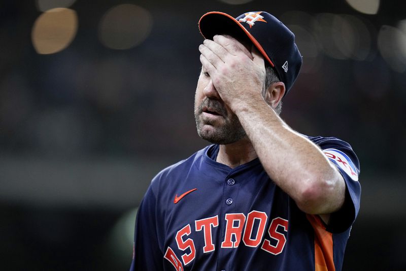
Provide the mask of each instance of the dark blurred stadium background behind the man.
[{"label": "dark blurred stadium background behind the man", "polygon": [[282,116],[350,142],[361,212],[344,270],[406,270],[404,1],[25,0],[0,4],[0,269],[126,270],[137,206],[207,143],[197,21],[266,10],[303,68]]}]

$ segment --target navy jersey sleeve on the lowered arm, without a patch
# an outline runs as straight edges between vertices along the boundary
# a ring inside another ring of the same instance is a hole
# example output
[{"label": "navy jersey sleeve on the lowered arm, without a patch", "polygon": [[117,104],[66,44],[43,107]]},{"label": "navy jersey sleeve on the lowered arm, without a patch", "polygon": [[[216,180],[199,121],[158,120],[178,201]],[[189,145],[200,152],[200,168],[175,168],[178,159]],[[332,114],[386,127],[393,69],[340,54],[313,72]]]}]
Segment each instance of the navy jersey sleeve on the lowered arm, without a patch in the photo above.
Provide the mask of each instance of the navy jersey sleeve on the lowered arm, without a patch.
[{"label": "navy jersey sleeve on the lowered arm, without a patch", "polygon": [[150,186],[138,208],[130,271],[163,270],[156,221],[156,196]]}]

